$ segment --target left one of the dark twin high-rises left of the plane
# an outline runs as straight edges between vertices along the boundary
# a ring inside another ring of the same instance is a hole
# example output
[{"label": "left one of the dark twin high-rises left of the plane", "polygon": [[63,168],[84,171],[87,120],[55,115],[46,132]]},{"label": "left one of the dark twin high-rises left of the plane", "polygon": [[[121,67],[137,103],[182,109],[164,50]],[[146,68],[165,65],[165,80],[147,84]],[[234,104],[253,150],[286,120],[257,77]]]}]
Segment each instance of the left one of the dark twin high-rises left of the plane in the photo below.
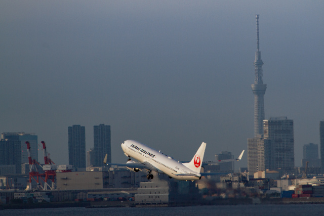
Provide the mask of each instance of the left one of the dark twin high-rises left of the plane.
[{"label": "left one of the dark twin high-rises left of the plane", "polygon": [[69,164],[75,168],[86,168],[86,127],[68,127]]}]

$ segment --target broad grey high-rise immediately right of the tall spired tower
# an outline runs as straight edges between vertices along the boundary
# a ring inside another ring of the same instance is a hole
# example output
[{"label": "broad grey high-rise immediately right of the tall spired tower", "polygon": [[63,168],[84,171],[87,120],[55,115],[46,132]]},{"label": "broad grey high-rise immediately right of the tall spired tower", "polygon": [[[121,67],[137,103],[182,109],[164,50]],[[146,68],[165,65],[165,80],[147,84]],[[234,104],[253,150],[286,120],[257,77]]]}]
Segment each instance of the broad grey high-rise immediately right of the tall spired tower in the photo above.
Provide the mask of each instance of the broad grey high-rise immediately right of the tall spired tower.
[{"label": "broad grey high-rise immediately right of the tall spired tower", "polygon": [[295,167],[294,121],[287,117],[264,120],[264,139],[270,140],[274,169],[291,172]]}]

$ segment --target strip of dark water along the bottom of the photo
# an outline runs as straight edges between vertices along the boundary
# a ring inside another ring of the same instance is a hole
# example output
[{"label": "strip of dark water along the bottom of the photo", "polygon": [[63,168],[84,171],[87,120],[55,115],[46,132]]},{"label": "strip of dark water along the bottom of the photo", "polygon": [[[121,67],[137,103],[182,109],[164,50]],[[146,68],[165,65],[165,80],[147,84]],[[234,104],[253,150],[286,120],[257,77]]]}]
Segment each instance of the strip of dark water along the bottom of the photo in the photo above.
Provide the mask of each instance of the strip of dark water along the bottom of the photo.
[{"label": "strip of dark water along the bottom of the photo", "polygon": [[143,208],[42,208],[0,210],[0,215],[324,215],[324,204],[213,205]]}]

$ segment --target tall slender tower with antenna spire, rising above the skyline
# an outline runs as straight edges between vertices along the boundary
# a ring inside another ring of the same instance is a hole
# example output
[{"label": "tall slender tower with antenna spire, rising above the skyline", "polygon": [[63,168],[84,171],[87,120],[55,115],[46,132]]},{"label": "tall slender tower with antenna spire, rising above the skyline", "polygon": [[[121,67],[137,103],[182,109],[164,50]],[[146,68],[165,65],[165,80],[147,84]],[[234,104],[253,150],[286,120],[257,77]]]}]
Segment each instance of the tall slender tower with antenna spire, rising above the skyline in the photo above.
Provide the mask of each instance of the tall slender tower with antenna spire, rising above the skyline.
[{"label": "tall slender tower with antenna spire, rising above the skyline", "polygon": [[254,136],[263,135],[263,120],[264,120],[264,94],[267,89],[267,85],[263,84],[263,72],[261,60],[261,52],[259,50],[259,15],[256,15],[257,19],[257,51],[255,52],[255,66],[254,84],[251,85],[254,94]]}]

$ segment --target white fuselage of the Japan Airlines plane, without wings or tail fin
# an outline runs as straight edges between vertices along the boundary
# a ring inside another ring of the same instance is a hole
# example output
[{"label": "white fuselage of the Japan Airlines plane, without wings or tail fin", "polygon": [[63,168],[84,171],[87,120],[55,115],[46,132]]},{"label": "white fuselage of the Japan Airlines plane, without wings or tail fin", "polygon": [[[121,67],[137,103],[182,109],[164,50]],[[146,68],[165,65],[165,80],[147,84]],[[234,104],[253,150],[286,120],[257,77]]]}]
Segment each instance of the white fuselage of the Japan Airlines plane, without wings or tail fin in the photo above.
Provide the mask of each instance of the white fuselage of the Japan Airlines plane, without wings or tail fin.
[{"label": "white fuselage of the Japan Airlines plane, without wings or tail fin", "polygon": [[[172,157],[163,154],[159,151],[156,151],[155,149],[152,149],[137,141],[127,140],[121,144],[121,148],[123,149],[126,155],[133,157],[134,159],[142,163],[148,162],[149,164],[154,166],[158,172],[165,173],[169,177],[172,177],[174,179],[198,180],[200,177],[200,174],[198,172],[189,169],[183,163],[174,160]],[[195,173],[197,177],[184,176],[186,174],[192,173]]]}]

